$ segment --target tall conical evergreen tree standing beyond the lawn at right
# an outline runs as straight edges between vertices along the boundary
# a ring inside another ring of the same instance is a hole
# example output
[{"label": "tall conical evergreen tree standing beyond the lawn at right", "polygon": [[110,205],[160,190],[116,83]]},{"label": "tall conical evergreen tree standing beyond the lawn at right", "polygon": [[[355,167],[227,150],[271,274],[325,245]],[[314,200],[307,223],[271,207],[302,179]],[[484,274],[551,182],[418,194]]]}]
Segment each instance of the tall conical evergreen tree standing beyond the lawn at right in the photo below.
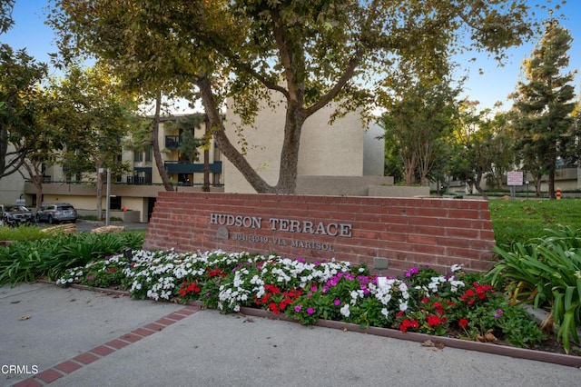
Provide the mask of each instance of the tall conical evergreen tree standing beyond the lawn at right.
[{"label": "tall conical evergreen tree standing beyond the lawn at right", "polygon": [[573,135],[575,108],[569,65],[571,35],[556,20],[546,23],[545,34],[523,67],[527,83],[519,82],[513,94],[520,118],[515,123],[518,148],[529,167],[535,164],[548,175],[548,196],[555,199],[556,160],[566,154],[564,144]]}]

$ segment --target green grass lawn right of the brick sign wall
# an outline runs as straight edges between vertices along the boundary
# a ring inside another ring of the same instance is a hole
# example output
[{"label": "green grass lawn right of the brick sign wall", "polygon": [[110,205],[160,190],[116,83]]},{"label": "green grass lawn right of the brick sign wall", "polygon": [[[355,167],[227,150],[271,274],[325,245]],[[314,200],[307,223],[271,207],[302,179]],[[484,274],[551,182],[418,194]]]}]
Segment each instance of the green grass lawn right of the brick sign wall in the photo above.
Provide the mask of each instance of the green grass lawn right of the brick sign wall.
[{"label": "green grass lawn right of the brick sign wall", "polygon": [[525,242],[559,225],[581,229],[581,199],[491,200],[488,208],[498,244]]}]

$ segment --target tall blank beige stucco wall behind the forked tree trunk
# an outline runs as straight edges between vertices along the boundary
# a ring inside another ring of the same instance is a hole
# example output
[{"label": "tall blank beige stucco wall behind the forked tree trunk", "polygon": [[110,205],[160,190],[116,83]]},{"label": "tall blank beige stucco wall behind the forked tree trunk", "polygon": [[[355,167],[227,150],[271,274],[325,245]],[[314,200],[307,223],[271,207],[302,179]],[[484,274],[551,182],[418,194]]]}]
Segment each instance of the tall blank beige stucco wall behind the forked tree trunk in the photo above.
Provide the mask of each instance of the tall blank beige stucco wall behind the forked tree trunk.
[{"label": "tall blank beige stucco wall behind the forked tree trunk", "polygon": [[[231,112],[231,111],[229,111]],[[373,140],[377,128],[366,133],[359,114],[347,114],[329,124],[333,107],[328,105],[310,116],[300,138],[299,176],[383,175],[383,142]],[[246,147],[246,158],[269,184],[279,177],[284,130],[284,104],[276,111],[263,106],[252,127],[241,127],[240,117],[227,114],[226,132],[232,144]],[[380,128],[379,128],[380,129]],[[375,155],[364,157],[365,149]],[[365,166],[365,163],[369,165]],[[224,158],[225,192],[254,193],[240,172]]]}]

